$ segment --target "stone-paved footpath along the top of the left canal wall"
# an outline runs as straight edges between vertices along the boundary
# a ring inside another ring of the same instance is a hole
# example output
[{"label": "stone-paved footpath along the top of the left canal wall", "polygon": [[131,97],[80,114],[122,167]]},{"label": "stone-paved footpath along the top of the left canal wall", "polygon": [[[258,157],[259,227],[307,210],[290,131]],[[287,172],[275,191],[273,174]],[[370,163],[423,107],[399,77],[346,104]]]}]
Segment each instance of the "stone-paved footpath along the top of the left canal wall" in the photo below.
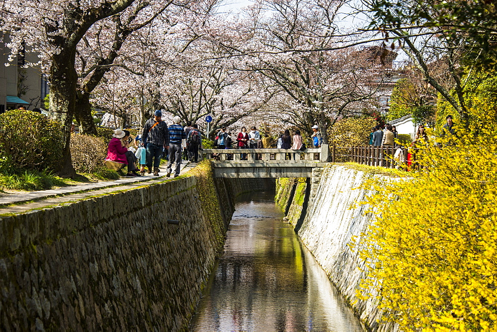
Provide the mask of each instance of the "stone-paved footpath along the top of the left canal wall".
[{"label": "stone-paved footpath along the top of the left canal wall", "polygon": [[[188,172],[192,166],[196,164],[192,164],[187,160],[182,160],[181,162],[181,171],[180,175]],[[63,187],[59,189],[51,189],[51,190],[43,190],[37,192],[29,192],[29,193],[20,193],[20,194],[4,194],[0,197],[0,214],[4,213],[19,213],[26,210],[26,207],[32,206],[28,209],[53,205],[60,202],[69,202],[72,200],[78,200],[86,196],[99,195],[105,192],[112,192],[116,190],[129,189],[133,187],[139,187],[145,185],[144,182],[154,183],[154,182],[162,182],[166,179],[166,164],[163,164],[160,167],[160,176],[153,176],[152,174],[148,174],[145,172],[145,176],[139,177],[121,177],[119,180],[115,181],[105,181],[105,182],[97,182],[91,184]],[[172,179],[172,175],[170,177]],[[119,186],[118,188],[116,188]],[[70,199],[67,197],[71,195]],[[53,198],[53,199],[51,199]],[[19,204],[28,201],[35,200],[34,202],[30,202],[29,204],[22,204],[16,206],[5,206],[9,204]],[[42,201],[40,201],[42,200]]]}]

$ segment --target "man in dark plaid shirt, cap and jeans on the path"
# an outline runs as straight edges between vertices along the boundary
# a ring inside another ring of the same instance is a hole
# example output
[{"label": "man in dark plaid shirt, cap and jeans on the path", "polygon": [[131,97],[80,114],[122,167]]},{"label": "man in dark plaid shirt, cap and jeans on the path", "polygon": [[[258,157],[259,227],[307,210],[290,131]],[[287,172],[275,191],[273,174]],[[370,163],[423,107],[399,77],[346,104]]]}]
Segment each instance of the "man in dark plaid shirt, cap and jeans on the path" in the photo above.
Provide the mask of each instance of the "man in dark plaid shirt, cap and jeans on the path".
[{"label": "man in dark plaid shirt, cap and jeans on the path", "polygon": [[169,149],[169,131],[167,124],[162,121],[162,112],[157,110],[154,116],[147,120],[142,132],[142,146],[147,150],[146,165],[147,173],[152,173],[152,164],[154,166],[154,175],[159,176],[159,165],[164,149]]}]

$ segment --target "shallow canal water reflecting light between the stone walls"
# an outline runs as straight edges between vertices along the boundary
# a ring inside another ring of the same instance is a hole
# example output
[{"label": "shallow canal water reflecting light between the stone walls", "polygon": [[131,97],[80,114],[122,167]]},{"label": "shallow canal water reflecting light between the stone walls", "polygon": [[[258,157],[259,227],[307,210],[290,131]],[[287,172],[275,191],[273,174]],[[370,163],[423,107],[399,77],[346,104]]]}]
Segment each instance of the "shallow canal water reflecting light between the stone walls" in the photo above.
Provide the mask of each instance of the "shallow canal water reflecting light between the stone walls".
[{"label": "shallow canal water reflecting light between the stone walls", "polygon": [[363,331],[283,216],[274,193],[238,199],[190,331]]}]

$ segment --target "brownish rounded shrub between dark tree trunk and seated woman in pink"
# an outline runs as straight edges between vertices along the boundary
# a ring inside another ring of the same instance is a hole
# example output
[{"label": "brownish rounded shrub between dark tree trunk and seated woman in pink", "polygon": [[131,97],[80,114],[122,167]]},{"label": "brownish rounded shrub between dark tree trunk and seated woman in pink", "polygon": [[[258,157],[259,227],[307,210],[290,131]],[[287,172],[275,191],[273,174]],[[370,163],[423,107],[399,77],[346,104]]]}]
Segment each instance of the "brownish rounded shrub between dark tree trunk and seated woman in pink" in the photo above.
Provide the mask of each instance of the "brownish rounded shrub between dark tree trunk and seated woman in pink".
[{"label": "brownish rounded shrub between dark tree trunk and seated woman in pink", "polygon": [[103,164],[107,156],[107,144],[99,137],[72,134],[71,156],[77,172],[91,173]]}]

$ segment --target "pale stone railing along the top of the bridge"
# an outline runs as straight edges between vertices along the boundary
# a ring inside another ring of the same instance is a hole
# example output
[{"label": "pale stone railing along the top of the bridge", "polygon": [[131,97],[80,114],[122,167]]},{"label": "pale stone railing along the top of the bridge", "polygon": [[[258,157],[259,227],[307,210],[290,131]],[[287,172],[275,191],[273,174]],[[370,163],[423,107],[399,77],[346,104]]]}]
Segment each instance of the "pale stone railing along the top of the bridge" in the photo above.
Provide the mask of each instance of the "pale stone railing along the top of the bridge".
[{"label": "pale stone railing along the top of the bridge", "polygon": [[328,145],[321,148],[301,150],[292,149],[204,149],[204,159],[220,161],[246,161],[264,163],[278,162],[327,162]]}]

